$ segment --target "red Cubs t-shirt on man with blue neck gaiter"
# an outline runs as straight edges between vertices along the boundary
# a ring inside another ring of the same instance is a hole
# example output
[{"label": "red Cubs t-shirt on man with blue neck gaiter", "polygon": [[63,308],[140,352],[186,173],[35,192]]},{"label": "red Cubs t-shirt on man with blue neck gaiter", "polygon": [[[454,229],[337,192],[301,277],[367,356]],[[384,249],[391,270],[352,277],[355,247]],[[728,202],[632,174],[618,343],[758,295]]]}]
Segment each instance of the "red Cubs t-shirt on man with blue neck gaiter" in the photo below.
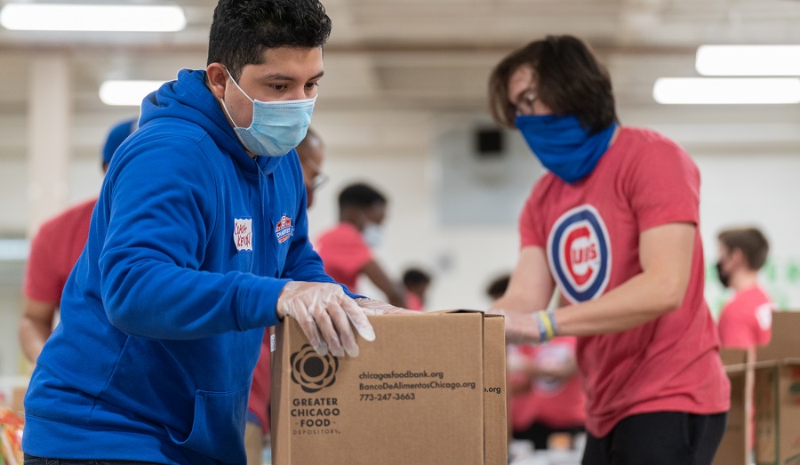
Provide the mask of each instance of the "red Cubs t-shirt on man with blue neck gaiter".
[{"label": "red Cubs t-shirt on man with blue neck gaiter", "polygon": [[[520,219],[522,246],[546,250],[565,301],[588,301],[642,272],[644,230],[699,225],[699,197],[700,172],[681,148],[656,132],[623,127],[583,180],[568,184],[548,173],[536,183]],[[593,436],[636,413],[728,410],[730,382],[703,285],[698,227],[678,309],[628,331],[579,338]]]}]

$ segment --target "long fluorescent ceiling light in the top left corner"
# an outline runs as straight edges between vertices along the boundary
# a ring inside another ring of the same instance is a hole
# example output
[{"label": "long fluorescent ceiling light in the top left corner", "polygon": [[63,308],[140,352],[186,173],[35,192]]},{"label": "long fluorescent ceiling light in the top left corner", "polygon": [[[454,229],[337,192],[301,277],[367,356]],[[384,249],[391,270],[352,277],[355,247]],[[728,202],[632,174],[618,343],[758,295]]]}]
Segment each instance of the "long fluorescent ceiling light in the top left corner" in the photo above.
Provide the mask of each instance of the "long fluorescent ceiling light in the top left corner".
[{"label": "long fluorescent ceiling light in the top left corner", "polygon": [[0,24],[16,30],[174,32],[186,27],[179,6],[6,4]]}]

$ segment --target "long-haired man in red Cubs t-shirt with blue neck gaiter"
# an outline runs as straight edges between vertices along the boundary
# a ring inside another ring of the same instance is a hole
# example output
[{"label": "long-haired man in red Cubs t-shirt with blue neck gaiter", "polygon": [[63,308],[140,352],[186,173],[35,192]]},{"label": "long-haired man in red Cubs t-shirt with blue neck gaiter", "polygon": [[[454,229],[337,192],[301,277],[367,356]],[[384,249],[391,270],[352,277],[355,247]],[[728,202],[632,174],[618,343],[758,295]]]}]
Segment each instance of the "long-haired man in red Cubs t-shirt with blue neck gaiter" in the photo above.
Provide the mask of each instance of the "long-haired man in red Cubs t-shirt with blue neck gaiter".
[{"label": "long-haired man in red Cubs t-shirt with blue neck gaiter", "polygon": [[[620,126],[607,71],[575,37],[512,52],[490,92],[495,119],[549,170],[492,306],[508,341],[578,337],[584,465],[711,463],[730,383],[703,298],[697,167],[659,133]],[[556,285],[568,304],[536,311]]]}]

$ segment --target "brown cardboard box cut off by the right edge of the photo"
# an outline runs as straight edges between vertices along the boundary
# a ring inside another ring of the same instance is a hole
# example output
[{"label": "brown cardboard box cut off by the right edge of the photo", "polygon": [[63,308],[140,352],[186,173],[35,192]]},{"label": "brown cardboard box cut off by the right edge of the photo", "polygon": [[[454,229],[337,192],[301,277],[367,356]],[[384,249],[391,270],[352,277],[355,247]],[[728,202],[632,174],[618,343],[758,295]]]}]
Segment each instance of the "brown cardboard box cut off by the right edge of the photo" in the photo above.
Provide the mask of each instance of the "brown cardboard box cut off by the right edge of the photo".
[{"label": "brown cardboard box cut off by the right edge of the photo", "polygon": [[800,464],[800,313],[773,313],[756,357],[756,463]]}]

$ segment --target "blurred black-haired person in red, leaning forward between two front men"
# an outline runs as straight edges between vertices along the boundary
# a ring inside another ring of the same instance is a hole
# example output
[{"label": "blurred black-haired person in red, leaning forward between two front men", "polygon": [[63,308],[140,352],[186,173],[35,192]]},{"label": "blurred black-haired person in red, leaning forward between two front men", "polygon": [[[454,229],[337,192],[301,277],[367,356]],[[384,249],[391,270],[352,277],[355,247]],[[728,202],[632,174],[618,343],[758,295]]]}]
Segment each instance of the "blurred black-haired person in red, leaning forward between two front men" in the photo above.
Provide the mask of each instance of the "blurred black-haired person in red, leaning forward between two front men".
[{"label": "blurred black-haired person in red, leaning forward between two front men", "polygon": [[368,277],[387,301],[405,308],[404,292],[390,279],[372,256],[380,244],[386,219],[386,196],[364,183],[351,184],[339,195],[339,224],[316,239],[316,252],[323,259],[325,273],[338,283],[358,292],[358,277]]}]

